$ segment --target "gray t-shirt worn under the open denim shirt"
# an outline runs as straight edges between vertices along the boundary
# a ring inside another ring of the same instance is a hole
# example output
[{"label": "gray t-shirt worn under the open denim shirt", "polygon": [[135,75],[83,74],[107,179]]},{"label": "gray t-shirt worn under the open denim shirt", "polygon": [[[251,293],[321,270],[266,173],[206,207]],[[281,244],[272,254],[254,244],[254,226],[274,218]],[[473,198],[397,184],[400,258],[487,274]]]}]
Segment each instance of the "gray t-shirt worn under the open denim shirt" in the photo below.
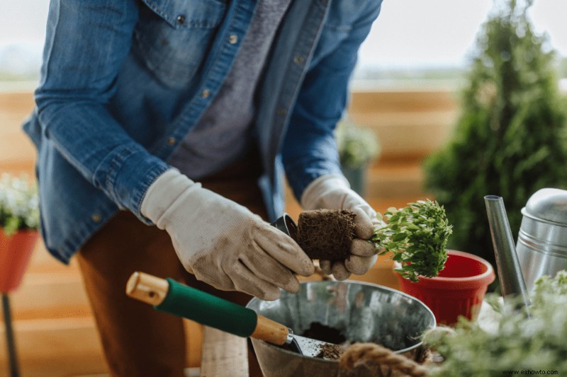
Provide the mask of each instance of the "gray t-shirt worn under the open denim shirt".
[{"label": "gray t-shirt worn under the open denim shirt", "polygon": [[223,87],[167,161],[199,179],[228,166],[252,146],[254,94],[274,35],[291,0],[259,0]]}]

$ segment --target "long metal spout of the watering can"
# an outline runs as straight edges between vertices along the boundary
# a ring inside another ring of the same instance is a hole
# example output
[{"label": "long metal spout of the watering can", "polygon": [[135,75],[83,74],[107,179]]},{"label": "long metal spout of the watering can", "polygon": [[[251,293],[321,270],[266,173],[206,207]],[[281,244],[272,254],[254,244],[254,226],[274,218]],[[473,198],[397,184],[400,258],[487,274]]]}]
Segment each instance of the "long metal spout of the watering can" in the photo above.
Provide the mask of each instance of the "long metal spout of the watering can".
[{"label": "long metal spout of the watering can", "polygon": [[520,297],[519,306],[529,306],[522,269],[516,254],[514,238],[506,215],[502,197],[487,195],[484,197],[488,224],[496,257],[496,267],[500,278],[500,289],[504,299],[511,296]]}]

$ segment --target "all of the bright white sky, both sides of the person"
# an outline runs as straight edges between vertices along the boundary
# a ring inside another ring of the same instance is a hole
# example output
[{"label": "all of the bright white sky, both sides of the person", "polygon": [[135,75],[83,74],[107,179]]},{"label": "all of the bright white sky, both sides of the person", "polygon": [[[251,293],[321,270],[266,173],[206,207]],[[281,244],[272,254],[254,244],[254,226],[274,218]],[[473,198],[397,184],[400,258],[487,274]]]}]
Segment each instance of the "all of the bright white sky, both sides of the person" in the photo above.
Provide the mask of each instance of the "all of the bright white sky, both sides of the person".
[{"label": "all of the bright white sky, both sides of the person", "polygon": [[[0,47],[23,44],[40,51],[49,2],[0,2]],[[493,0],[383,0],[359,64],[462,66],[492,6]],[[535,30],[547,33],[551,46],[567,57],[567,0],[535,0],[530,14]]]}]

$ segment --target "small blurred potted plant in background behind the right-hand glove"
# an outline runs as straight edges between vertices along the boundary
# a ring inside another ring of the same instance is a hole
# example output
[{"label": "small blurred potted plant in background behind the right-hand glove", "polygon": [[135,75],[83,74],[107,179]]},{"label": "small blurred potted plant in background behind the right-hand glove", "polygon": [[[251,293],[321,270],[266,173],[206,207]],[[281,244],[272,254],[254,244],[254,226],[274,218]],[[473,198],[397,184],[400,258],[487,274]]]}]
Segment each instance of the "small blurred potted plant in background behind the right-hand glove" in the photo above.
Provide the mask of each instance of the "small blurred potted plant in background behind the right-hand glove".
[{"label": "small blurred potted plant in background behind the right-hand glove", "polygon": [[366,170],[380,153],[378,137],[371,129],[354,124],[348,117],[337,124],[335,136],[342,173],[352,190],[364,196]]}]

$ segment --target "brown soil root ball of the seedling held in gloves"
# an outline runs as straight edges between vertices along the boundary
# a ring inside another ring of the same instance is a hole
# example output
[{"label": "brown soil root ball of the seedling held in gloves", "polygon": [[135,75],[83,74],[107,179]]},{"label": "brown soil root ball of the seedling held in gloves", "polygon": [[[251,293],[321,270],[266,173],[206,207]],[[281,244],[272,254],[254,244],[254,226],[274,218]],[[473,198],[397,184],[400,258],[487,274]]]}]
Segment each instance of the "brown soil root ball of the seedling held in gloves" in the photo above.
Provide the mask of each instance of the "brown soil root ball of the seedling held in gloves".
[{"label": "brown soil root ball of the seedling held in gloves", "polygon": [[298,219],[297,243],[311,259],[347,259],[356,216],[346,209],[303,211]]}]

